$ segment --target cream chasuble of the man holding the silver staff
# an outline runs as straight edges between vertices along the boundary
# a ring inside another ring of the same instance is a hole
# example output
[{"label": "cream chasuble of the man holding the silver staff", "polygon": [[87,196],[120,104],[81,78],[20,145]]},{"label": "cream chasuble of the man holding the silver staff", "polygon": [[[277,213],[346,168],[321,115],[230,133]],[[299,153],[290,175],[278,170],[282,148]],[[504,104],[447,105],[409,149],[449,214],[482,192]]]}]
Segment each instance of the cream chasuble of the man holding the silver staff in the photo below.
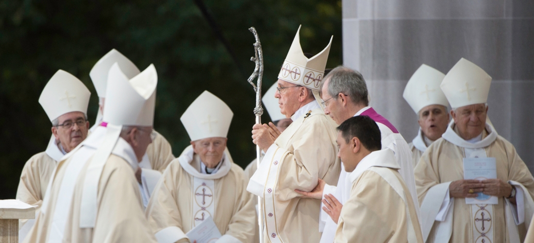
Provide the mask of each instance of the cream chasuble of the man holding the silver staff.
[{"label": "cream chasuble of the man holding the silver staff", "polygon": [[292,119],[247,187],[263,198],[265,242],[319,242],[321,201],[302,198],[295,189],[311,191],[318,178],[334,184],[340,174],[336,131],[318,103],[301,107]]}]

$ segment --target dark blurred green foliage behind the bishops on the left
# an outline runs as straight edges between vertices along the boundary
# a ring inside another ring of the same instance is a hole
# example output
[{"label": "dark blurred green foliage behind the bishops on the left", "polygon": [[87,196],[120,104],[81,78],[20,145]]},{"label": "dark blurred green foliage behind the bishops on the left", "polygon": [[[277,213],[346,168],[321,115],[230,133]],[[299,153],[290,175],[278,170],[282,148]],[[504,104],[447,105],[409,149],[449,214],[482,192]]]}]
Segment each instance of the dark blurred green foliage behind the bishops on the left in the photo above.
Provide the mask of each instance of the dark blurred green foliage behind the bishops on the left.
[{"label": "dark blurred green foliage behind the bishops on the left", "polygon": [[[154,129],[175,156],[190,141],[179,118],[208,90],[234,112],[228,148],[245,168],[255,156],[248,28],[256,27],[262,42],[265,92],[300,24],[304,52],[318,53],[334,35],[327,68],[342,63],[339,0],[0,0],[0,199],[15,198],[25,162],[48,144],[51,123],[37,101],[46,82],[58,69],[78,77],[91,91],[92,125],[98,97],[89,71],[113,48],[141,70],[155,65]],[[262,121],[270,121],[266,112]]]}]

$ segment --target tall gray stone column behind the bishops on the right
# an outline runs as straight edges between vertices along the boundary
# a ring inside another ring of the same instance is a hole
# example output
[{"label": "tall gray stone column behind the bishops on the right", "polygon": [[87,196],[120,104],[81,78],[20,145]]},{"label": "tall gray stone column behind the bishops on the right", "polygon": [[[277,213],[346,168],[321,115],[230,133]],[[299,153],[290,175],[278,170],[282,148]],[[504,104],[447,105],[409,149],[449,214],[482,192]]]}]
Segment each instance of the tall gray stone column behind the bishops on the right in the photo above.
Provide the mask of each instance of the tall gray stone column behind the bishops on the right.
[{"label": "tall gray stone column behind the bishops on the right", "polygon": [[534,1],[343,0],[343,63],[407,142],[418,124],[406,82],[423,63],[446,74],[462,57],[493,78],[488,115],[534,171]]}]

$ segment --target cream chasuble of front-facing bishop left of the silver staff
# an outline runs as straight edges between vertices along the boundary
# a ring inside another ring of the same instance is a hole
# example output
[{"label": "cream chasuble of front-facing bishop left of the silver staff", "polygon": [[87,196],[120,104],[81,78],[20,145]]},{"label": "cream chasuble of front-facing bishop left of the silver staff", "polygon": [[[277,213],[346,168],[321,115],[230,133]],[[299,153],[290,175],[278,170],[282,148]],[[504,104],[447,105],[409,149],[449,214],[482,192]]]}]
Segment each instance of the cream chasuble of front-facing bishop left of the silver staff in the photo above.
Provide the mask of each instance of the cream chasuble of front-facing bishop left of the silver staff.
[{"label": "cream chasuble of front-facing bishop left of the silver staff", "polygon": [[223,235],[218,241],[251,242],[255,210],[243,169],[227,150],[212,174],[201,173],[202,165],[189,146],[164,171],[145,211],[158,242],[190,242],[185,233],[210,216]]}]

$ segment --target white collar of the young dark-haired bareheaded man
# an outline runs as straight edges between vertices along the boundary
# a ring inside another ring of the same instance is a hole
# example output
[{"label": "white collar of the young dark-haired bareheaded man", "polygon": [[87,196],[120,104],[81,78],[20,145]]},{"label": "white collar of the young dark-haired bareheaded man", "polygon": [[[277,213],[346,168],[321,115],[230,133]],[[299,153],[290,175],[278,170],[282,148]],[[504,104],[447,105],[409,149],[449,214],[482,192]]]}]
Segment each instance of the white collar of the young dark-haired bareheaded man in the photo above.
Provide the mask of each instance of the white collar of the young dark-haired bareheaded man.
[{"label": "white collar of the young dark-haired bareheaded man", "polygon": [[350,182],[356,181],[356,179],[358,179],[358,177],[360,177],[364,171],[374,166],[387,167],[397,170],[400,169],[397,161],[395,160],[395,153],[393,153],[392,150],[386,148],[385,150],[373,151],[365,156],[365,158],[358,163],[354,171],[350,173]]}]

